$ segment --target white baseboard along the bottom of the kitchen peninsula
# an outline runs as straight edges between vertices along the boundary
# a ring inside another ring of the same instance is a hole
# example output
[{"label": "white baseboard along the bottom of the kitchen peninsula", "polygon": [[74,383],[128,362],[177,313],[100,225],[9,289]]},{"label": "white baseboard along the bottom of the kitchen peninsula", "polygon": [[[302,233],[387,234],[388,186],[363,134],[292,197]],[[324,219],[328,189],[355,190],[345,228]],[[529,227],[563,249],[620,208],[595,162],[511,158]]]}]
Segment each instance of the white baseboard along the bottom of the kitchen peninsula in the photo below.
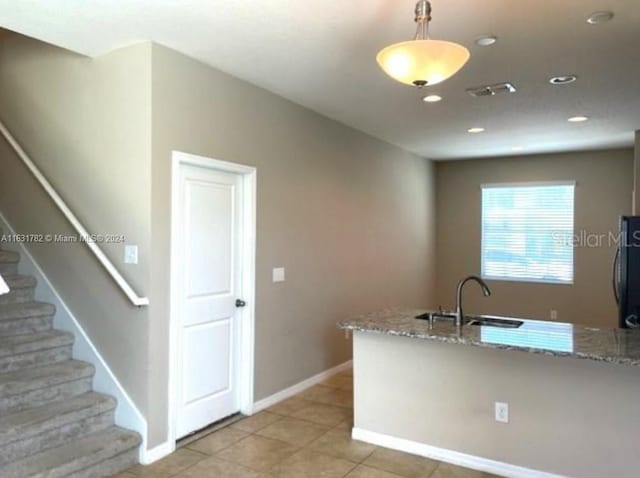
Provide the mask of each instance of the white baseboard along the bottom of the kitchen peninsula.
[{"label": "white baseboard along the bottom of the kitchen peninsula", "polygon": [[411,453],[412,455],[424,456],[432,460],[443,461],[452,465],[463,466],[485,473],[493,473],[507,478],[567,478],[563,475],[555,475],[545,471],[524,468],[479,456],[467,455],[466,453],[425,445],[424,443],[405,440],[404,438],[396,438],[361,428],[353,428],[351,436],[354,440],[371,443],[372,445],[391,448],[393,450]]}]

